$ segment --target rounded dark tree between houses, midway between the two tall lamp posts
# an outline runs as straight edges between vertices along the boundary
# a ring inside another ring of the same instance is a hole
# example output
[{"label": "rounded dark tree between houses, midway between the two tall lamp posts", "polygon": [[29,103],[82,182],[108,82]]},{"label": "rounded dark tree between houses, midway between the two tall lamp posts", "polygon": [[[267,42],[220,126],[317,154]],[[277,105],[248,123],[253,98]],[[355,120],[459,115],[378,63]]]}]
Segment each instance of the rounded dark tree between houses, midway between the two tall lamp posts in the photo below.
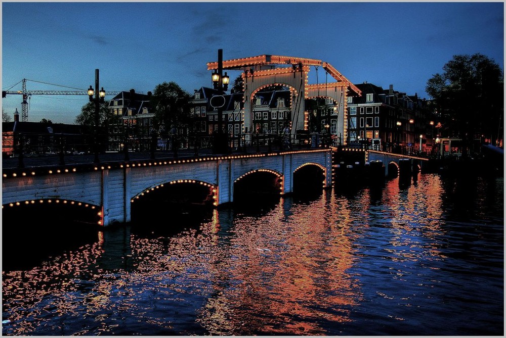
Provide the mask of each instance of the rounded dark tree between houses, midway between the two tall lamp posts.
[{"label": "rounded dark tree between houses, midway between the two tall lamp posts", "polygon": [[166,130],[173,126],[178,130],[183,128],[190,122],[190,100],[190,94],[176,82],[158,84],[150,100],[155,113],[155,124],[158,127],[164,125]]}]

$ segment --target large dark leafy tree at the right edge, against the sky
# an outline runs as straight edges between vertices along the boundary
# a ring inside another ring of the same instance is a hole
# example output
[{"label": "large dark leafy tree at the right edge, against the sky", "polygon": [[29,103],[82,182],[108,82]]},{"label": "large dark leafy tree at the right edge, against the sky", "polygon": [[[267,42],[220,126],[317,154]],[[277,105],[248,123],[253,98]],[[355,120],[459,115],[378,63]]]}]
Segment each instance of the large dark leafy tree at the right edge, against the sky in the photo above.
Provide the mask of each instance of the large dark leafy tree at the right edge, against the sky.
[{"label": "large dark leafy tree at the right edge, against the sky", "polygon": [[473,139],[498,138],[497,125],[503,113],[503,72],[493,60],[481,54],[455,55],[443,66],[442,74],[427,81],[443,130],[460,137],[462,156]]}]

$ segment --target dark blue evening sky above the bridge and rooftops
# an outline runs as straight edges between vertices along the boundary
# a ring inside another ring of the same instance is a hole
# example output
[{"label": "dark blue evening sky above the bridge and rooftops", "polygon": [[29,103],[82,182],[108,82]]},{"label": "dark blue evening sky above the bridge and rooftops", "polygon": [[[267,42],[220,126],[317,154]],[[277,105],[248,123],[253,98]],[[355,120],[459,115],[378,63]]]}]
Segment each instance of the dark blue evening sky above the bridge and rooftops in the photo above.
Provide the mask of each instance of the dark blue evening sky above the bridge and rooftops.
[{"label": "dark blue evening sky above the bridge and rooftops", "polygon": [[[224,60],[319,59],[353,83],[393,84],[429,99],[427,80],[453,55],[481,53],[504,69],[504,4],[2,3],[3,90],[21,90],[23,78],[86,89],[99,68],[106,90],[146,93],[175,81],[191,93],[210,86],[206,63],[217,61],[218,49]],[[324,83],[321,67],[312,68],[310,83],[316,74]],[[71,90],[32,81],[27,89]],[[32,95],[28,120],[73,123],[87,102],[80,95]],[[21,113],[21,95],[8,95],[2,106]]]}]

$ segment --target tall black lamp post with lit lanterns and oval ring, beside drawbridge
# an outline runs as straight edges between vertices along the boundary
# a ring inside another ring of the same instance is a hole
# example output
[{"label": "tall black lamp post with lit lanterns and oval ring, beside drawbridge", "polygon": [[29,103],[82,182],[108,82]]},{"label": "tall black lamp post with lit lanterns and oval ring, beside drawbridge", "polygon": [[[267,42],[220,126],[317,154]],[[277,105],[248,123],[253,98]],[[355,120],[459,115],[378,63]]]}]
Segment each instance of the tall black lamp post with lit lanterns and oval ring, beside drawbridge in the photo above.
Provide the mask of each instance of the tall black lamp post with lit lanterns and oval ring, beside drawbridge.
[{"label": "tall black lamp post with lit lanterns and oval ring, beside drawbridge", "polygon": [[[214,142],[214,152],[223,154],[227,151],[227,134],[223,132],[223,106],[225,105],[225,97],[223,94],[228,89],[230,77],[225,72],[223,75],[223,50],[218,50],[218,70],[212,74],[214,88],[218,90],[218,95],[213,96],[210,100],[211,106],[218,109],[218,132]],[[213,100],[214,99],[214,100]]]}]

